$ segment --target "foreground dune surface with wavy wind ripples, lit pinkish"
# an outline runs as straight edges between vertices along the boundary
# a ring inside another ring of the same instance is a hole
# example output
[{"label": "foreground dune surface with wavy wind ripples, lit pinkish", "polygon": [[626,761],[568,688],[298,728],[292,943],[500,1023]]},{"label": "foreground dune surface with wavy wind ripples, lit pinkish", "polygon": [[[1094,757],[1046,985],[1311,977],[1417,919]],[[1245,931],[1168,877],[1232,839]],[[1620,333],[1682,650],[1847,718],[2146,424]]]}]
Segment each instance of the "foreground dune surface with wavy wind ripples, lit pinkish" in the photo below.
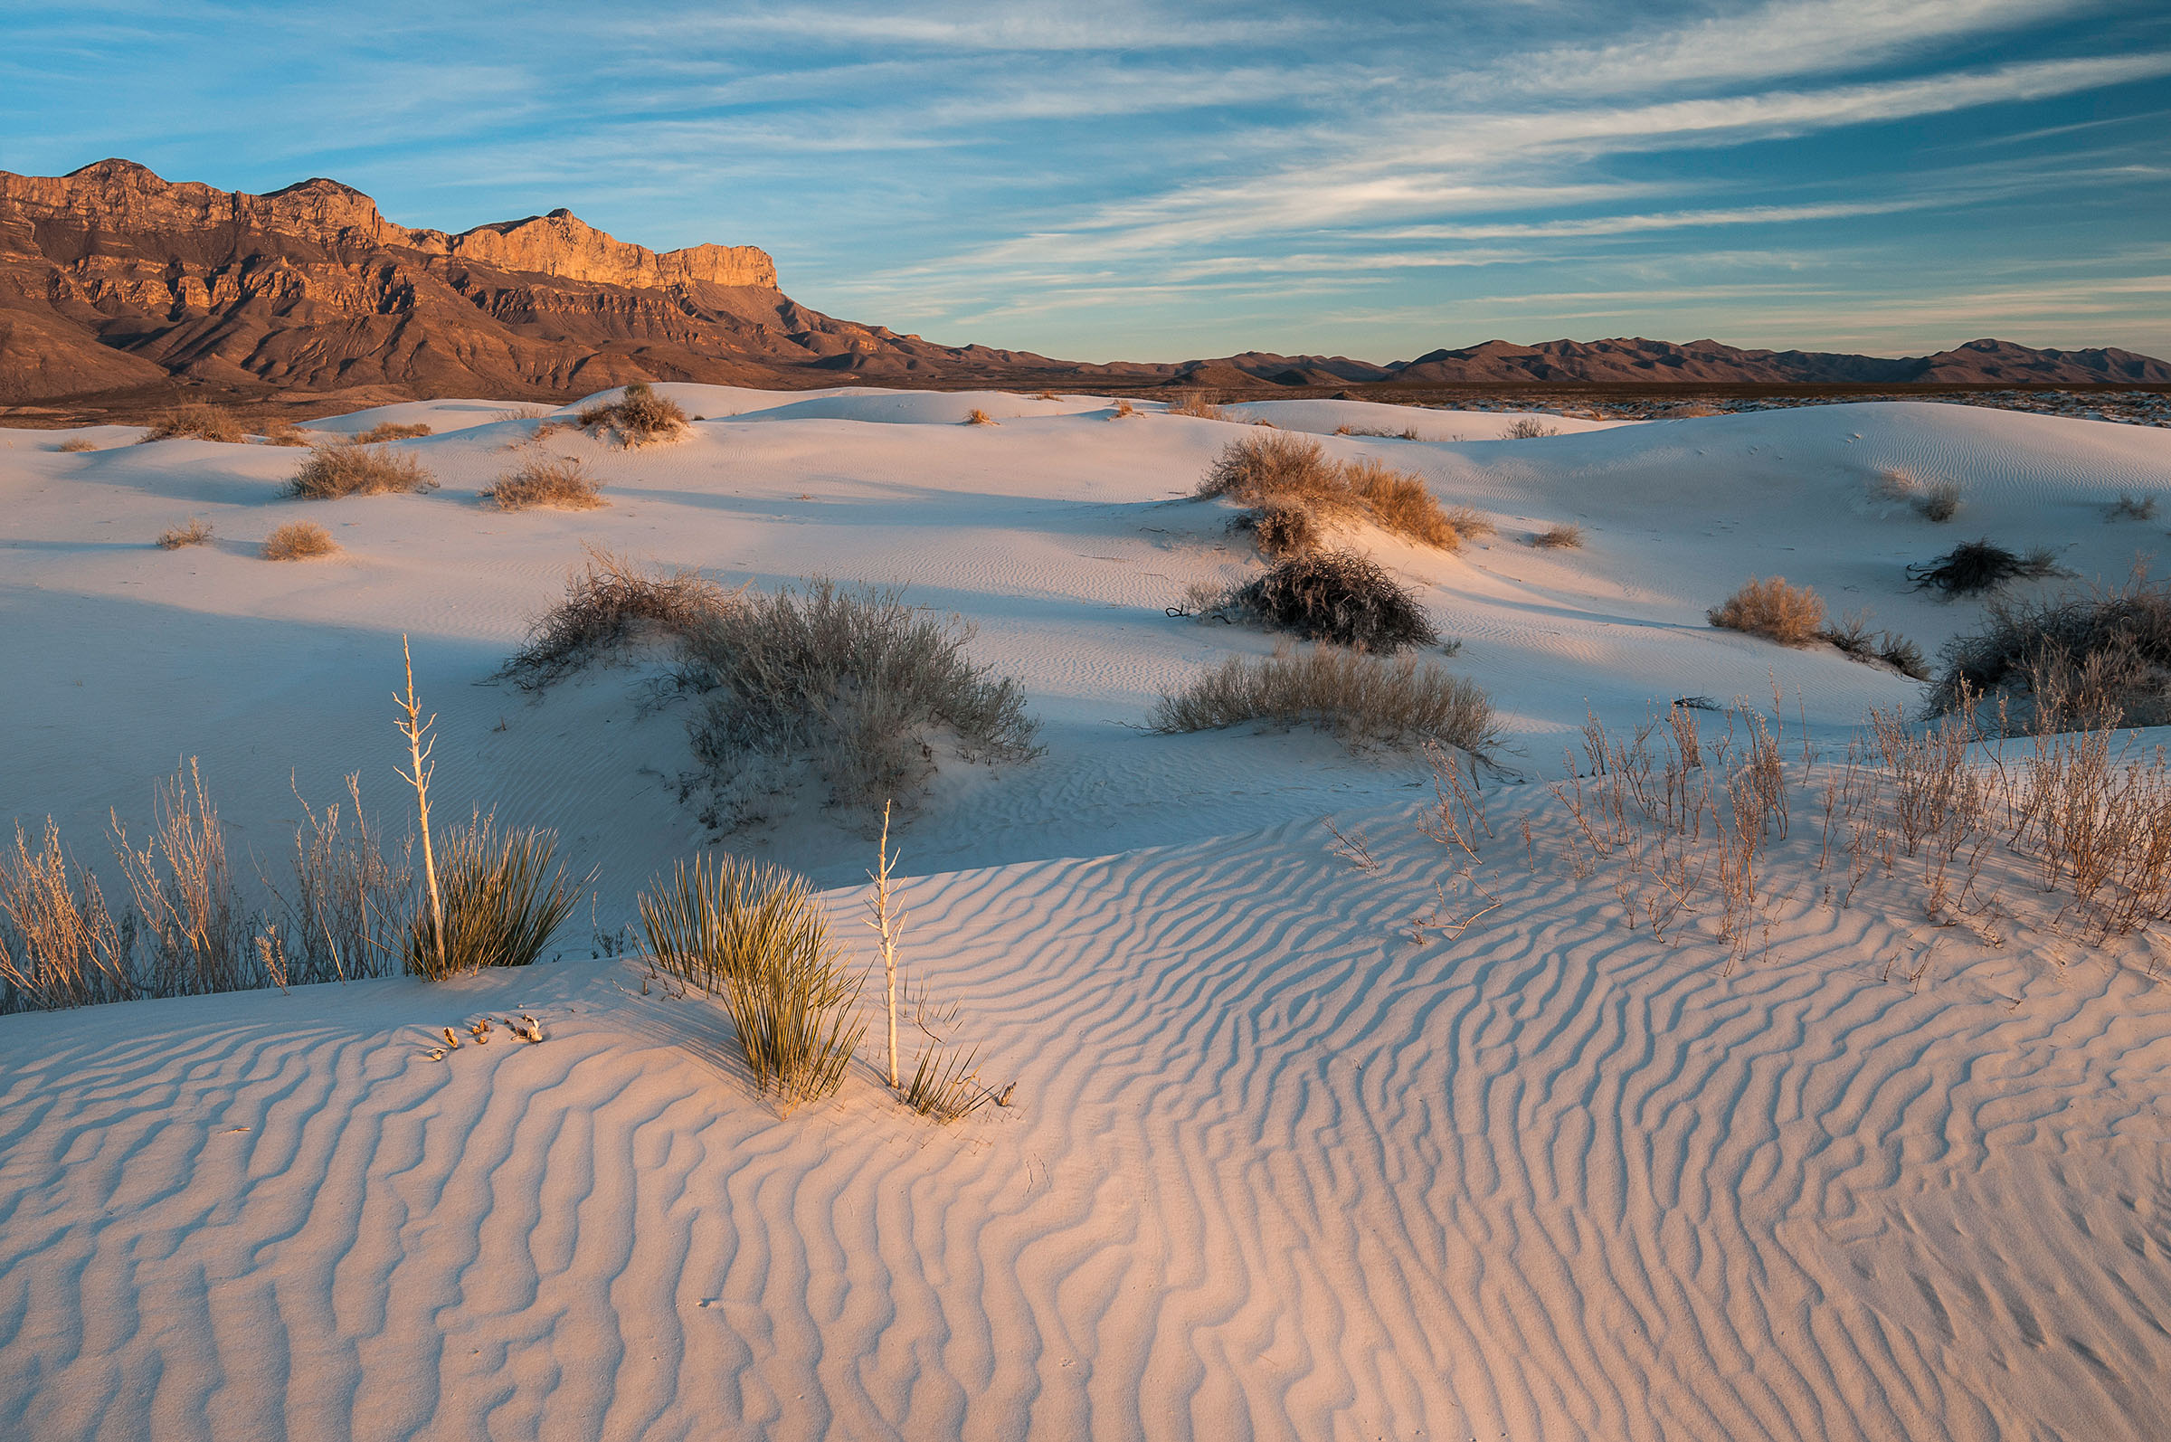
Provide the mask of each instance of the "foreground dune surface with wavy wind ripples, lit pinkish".
[{"label": "foreground dune surface with wavy wind ripples, lit pinkish", "polygon": [[2171,1435],[2162,988],[1722,977],[1520,869],[1418,945],[1376,849],[916,880],[1018,1077],[951,1129],[610,962],[0,1021],[0,1435]]}]

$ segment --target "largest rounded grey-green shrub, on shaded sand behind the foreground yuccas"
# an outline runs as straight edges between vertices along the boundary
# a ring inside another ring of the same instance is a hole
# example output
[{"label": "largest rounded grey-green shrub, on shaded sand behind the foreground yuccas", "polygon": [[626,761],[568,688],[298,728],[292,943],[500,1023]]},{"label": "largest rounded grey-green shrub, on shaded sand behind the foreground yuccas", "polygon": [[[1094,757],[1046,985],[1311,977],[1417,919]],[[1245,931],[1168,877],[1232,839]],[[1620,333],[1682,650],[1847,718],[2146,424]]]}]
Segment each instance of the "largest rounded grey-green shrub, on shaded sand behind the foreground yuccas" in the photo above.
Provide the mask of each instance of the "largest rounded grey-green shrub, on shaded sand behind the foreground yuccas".
[{"label": "largest rounded grey-green shrub, on shaded sand behind the foreground yuccas", "polygon": [[879,808],[934,771],[936,736],[966,760],[1027,760],[1038,728],[1018,682],[973,665],[973,628],[899,593],[814,580],[740,593],[684,636],[677,684],[706,697],[693,728],[708,819],[729,825],[753,793],[812,762],[831,804]]}]

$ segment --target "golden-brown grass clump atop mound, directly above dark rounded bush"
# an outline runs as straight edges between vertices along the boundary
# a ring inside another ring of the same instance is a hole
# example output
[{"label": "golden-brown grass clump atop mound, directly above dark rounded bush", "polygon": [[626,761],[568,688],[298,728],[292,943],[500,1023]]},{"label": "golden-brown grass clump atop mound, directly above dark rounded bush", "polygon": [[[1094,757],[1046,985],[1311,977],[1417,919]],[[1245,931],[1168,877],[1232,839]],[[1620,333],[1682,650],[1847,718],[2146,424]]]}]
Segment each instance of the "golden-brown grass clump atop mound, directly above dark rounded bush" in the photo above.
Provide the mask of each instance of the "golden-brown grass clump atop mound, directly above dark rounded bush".
[{"label": "golden-brown grass clump atop mound, directly above dark rounded bush", "polygon": [[[1381,530],[1452,552],[1465,536],[1491,532],[1474,510],[1439,508],[1420,476],[1372,458],[1340,463],[1316,437],[1294,432],[1231,441],[1198,482],[1198,495],[1227,495],[1253,506],[1242,521],[1268,556],[1324,539],[1333,519],[1370,519]],[[1305,513],[1300,519],[1296,513]],[[1457,523],[1457,515],[1465,519]]]}]

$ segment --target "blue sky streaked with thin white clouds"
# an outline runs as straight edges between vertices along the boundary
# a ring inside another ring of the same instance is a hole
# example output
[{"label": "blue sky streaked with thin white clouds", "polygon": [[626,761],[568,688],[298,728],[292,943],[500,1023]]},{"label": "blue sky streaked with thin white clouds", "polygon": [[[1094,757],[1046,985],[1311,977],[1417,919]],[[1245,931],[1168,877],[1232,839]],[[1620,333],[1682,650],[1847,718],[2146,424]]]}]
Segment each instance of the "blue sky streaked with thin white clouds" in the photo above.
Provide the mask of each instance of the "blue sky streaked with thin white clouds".
[{"label": "blue sky streaked with thin white clouds", "polygon": [[571,206],[1103,360],[2171,356],[2164,0],[0,4],[0,169]]}]

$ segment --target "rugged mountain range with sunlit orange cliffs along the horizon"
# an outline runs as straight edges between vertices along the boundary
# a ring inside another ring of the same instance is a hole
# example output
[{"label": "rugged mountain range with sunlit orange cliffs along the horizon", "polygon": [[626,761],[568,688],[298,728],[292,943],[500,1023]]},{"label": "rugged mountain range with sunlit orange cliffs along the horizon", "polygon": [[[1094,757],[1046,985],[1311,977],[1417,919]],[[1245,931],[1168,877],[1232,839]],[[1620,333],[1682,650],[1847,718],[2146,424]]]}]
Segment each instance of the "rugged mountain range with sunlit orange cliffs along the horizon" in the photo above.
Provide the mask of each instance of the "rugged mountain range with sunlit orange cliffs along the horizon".
[{"label": "rugged mountain range with sunlit orange cliffs along the horizon", "polygon": [[161,180],[130,161],[0,172],[0,404],[200,382],[402,395],[571,395],[627,380],[1177,389],[1455,384],[2171,384],[2125,350],[1969,341],[1891,360],[1717,341],[1487,341],[1372,365],[1244,352],[1086,365],[938,345],[810,311],[753,245],[653,252],[569,211],[458,235],[369,195]]}]

